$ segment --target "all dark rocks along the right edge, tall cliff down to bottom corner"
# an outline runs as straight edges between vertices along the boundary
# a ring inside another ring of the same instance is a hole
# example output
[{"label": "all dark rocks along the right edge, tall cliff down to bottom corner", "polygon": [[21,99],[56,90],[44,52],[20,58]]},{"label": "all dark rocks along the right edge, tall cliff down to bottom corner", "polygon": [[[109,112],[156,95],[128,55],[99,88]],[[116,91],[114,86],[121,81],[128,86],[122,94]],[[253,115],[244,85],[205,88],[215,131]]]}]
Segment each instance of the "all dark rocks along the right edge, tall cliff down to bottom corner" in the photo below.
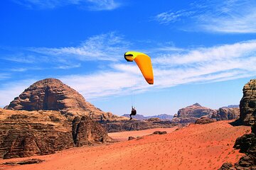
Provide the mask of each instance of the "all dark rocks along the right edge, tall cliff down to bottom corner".
[{"label": "all dark rocks along the right edge, tall cliff down to bottom corner", "polygon": [[235,141],[234,148],[240,149],[245,153],[244,157],[235,163],[235,165],[225,163],[220,167],[226,169],[256,169],[256,79],[252,79],[245,84],[243,96],[240,101],[240,118],[234,125],[251,125],[252,132],[242,135]]}]

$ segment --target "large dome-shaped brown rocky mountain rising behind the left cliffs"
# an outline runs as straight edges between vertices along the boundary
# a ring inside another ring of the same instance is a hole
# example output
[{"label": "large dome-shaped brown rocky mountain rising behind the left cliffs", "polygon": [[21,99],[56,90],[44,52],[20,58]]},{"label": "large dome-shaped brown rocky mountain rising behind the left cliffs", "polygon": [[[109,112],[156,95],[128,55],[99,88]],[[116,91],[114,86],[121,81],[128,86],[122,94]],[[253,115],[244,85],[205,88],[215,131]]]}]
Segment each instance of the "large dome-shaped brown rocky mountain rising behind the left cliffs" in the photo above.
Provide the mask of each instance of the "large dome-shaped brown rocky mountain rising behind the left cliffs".
[{"label": "large dome-shaped brown rocky mountain rising behind the left cliffs", "polygon": [[126,119],[105,113],[91,103],[85,101],[78,91],[63,84],[58,79],[43,79],[28,87],[22,94],[14,98],[7,109],[25,111],[60,111],[63,115],[87,115],[93,120]]}]

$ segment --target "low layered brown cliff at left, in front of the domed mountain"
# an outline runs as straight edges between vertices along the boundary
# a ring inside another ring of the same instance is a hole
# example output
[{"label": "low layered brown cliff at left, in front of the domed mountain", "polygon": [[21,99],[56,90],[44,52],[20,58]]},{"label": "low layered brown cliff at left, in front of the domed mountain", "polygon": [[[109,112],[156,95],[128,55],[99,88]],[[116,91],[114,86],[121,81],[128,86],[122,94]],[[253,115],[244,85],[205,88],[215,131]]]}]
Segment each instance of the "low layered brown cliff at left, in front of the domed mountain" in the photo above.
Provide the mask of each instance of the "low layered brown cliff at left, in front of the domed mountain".
[{"label": "low layered brown cliff at left, in front of the domed mountain", "polygon": [[109,139],[105,129],[86,115],[70,120],[59,111],[0,109],[0,158],[51,154]]}]

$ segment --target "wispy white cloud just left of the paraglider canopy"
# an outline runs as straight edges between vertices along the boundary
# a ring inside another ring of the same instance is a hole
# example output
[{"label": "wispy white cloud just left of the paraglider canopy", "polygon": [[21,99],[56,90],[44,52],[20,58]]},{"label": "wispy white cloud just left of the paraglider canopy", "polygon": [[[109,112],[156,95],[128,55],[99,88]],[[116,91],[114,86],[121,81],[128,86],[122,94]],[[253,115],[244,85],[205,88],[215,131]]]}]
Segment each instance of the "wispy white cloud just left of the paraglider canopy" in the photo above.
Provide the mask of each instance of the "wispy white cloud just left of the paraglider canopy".
[{"label": "wispy white cloud just left of the paraglider canopy", "polygon": [[107,33],[96,35],[78,47],[60,47],[60,48],[30,48],[28,50],[41,55],[50,55],[63,60],[63,57],[72,57],[73,60],[107,60],[117,61],[119,56],[124,55],[128,50],[129,42],[116,33]]}]

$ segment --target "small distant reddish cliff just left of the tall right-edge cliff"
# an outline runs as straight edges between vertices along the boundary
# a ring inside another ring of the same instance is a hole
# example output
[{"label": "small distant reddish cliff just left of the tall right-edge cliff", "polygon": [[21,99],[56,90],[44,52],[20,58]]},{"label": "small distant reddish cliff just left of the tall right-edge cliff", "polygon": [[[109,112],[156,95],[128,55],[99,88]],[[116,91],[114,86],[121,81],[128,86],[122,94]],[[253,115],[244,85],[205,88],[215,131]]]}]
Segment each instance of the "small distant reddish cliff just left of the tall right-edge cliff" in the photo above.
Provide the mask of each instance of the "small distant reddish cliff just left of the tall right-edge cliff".
[{"label": "small distant reddish cliff just left of the tall right-edge cliff", "polygon": [[240,115],[239,108],[219,108],[216,120],[233,120],[238,119]]}]

